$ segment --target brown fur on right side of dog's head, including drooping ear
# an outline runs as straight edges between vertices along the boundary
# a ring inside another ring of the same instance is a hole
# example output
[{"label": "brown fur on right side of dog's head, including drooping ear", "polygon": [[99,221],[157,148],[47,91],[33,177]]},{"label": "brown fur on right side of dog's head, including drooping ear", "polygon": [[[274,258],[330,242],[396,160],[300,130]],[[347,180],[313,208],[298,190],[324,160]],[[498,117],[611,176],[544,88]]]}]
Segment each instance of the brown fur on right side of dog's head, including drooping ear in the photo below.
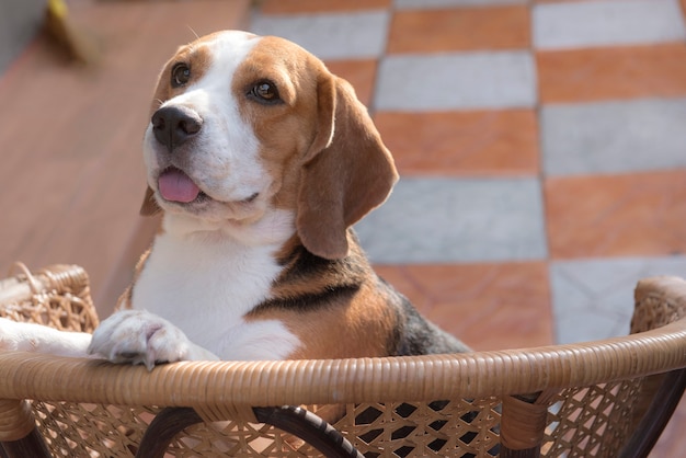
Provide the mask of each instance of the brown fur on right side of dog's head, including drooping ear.
[{"label": "brown fur on right side of dog's head, including drooping ear", "polygon": [[[245,95],[261,81],[276,85],[282,103]],[[236,71],[231,90],[260,140],[273,205],[297,210],[298,234],[311,252],[345,256],[347,228],[386,201],[398,179],[352,87],[299,46],[263,37]]]}]

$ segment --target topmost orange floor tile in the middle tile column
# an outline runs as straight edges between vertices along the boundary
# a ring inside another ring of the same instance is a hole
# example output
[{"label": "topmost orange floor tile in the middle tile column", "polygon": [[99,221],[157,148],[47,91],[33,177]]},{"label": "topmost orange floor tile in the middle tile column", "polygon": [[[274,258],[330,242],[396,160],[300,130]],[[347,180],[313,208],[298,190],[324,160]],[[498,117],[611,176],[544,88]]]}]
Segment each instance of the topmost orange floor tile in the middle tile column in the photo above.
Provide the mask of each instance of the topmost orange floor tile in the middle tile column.
[{"label": "topmost orange floor tile in the middle tile column", "polygon": [[527,7],[398,11],[388,53],[517,49],[530,42]]}]

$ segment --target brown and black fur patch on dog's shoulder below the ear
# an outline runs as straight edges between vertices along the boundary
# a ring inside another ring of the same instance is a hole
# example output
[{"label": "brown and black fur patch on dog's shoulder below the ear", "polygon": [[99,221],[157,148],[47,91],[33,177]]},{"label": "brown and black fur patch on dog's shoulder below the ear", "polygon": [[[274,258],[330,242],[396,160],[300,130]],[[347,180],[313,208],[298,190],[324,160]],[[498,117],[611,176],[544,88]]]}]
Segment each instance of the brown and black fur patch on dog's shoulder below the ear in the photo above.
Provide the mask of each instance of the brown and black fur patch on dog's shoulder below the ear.
[{"label": "brown and black fur patch on dog's shoulder below the ear", "polygon": [[282,251],[284,271],[272,298],[247,318],[279,320],[301,346],[289,358],[386,356],[393,352],[397,311],[377,288],[377,277],[359,245],[351,238],[351,254],[325,260],[297,241]]}]

